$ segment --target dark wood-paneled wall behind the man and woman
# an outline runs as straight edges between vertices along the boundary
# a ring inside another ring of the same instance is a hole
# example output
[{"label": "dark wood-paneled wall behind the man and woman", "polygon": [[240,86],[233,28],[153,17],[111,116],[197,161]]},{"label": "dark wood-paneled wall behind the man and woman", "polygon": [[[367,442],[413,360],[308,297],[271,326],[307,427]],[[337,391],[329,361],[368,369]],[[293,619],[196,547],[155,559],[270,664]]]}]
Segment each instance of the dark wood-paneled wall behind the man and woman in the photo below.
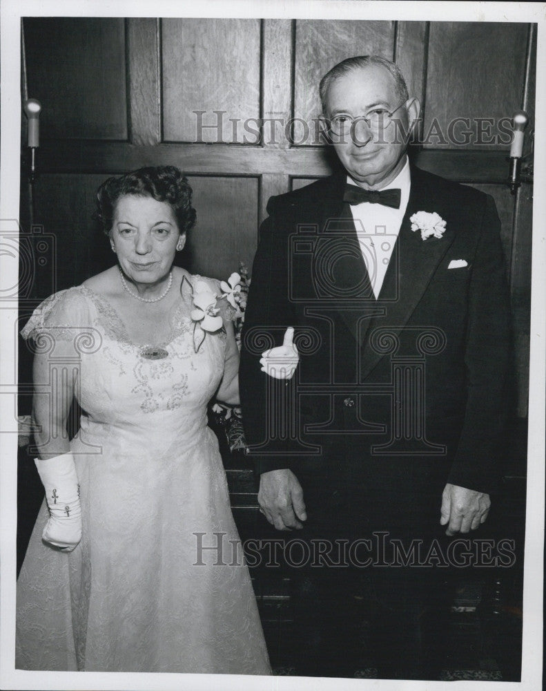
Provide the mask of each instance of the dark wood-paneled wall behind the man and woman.
[{"label": "dark wood-paneled wall behind the man and woman", "polygon": [[[318,81],[345,57],[377,53],[398,61],[422,102],[425,137],[436,125],[445,133],[454,117],[470,118],[474,133],[475,118],[493,118],[494,136],[499,118],[521,107],[534,111],[534,33],[527,24],[29,18],[23,41],[28,96],[43,111],[40,175],[32,214],[21,208],[21,219],[57,236],[58,288],[112,263],[106,238],[92,225],[95,189],[108,175],[146,164],[177,165],[191,180],[198,220],[188,268],[223,278],[239,261],[250,264],[269,196],[326,176],[335,164],[313,128]],[[420,167],[496,200],[524,417],[532,185],[511,196],[508,145],[499,141],[430,138],[412,149]],[[36,299],[46,285],[50,279],[38,270]]]}]

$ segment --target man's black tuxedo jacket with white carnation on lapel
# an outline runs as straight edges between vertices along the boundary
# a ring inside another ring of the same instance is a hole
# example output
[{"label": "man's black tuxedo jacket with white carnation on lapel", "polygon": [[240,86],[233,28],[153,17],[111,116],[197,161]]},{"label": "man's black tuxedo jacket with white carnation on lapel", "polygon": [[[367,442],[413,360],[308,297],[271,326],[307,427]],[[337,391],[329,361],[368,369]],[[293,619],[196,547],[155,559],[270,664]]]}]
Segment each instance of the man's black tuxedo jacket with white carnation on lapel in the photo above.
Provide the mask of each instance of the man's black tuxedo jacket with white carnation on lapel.
[{"label": "man's black tuxedo jacket with white carnation on lapel", "polygon": [[[510,361],[494,201],[412,167],[376,299],[373,249],[366,267],[342,201],[345,180],[335,175],[272,197],[260,229],[240,368],[257,472],[291,468],[305,478],[306,495],[313,482],[358,489],[379,476],[378,487],[393,477],[407,485],[416,468],[426,482],[432,462],[442,482],[489,492]],[[417,211],[446,221],[441,238],[411,230]],[[389,241],[376,229],[376,242]],[[260,352],[281,345],[288,326],[300,363],[293,379],[278,381],[260,371]]]}]

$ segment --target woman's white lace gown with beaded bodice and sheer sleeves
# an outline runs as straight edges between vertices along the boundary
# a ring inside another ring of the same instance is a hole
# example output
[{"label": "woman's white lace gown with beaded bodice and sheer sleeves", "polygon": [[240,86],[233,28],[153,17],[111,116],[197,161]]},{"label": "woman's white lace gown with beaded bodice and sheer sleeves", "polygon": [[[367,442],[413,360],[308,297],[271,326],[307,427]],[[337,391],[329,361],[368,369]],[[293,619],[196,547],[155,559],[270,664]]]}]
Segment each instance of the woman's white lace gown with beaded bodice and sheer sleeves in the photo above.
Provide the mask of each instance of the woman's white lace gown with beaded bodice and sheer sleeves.
[{"label": "woman's white lace gown with beaded bodice and sheer sleeves", "polygon": [[81,332],[85,414],[70,444],[83,538],[71,553],[43,543],[43,502],[17,583],[19,669],[271,674],[207,427],[226,337],[206,334],[195,352],[187,313],[181,301],[156,360],[84,286],[52,295],[23,331],[38,348]]}]

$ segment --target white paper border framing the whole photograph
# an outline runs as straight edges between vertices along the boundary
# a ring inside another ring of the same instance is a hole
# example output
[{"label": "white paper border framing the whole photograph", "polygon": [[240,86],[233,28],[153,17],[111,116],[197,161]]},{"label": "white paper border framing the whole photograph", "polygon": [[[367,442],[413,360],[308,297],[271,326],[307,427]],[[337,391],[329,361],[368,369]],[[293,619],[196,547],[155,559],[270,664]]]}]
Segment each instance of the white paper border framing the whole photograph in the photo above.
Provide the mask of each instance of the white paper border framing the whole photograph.
[{"label": "white paper border framing the whole photograph", "polygon": [[[17,228],[20,167],[20,25],[21,17],[260,17],[315,19],[392,19],[407,21],[506,21],[538,24],[536,84],[546,84],[546,3],[391,2],[367,0],[2,0],[1,29],[1,158],[0,230]],[[536,91],[536,122],[546,122],[544,89]],[[536,129],[534,189],[546,190],[546,131]],[[542,153],[541,153],[542,152]],[[523,589],[522,681],[459,681],[457,690],[536,691],[542,685],[543,545],[545,486],[546,370],[546,195],[537,194],[533,209],[532,316],[529,377],[529,444],[527,519]],[[0,290],[17,285],[18,263],[0,256]],[[0,688],[237,691],[284,689],[409,689],[424,682],[303,679],[273,676],[209,676],[207,674],[134,674],[99,672],[26,672],[14,670],[14,618],[17,516],[17,435],[12,391],[16,352],[13,310],[0,310]],[[427,682],[427,688],[444,688]],[[451,686],[449,686],[451,688]]]}]

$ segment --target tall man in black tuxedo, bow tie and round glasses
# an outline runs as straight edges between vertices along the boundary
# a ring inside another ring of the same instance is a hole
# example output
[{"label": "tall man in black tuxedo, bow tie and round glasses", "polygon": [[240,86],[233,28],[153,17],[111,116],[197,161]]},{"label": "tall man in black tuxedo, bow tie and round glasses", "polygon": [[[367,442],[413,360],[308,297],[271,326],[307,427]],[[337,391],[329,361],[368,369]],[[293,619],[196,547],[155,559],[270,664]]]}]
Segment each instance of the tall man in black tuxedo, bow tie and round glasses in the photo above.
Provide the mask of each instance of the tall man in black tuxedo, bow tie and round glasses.
[{"label": "tall man in black tuxedo, bow tie and round glasses", "polygon": [[[445,595],[449,540],[485,521],[498,473],[500,223],[485,193],[409,163],[420,105],[395,64],[344,60],[320,96],[343,170],[269,200],[243,334],[244,426],[260,510],[315,550],[291,574],[309,649],[298,672],[351,676],[362,636],[349,620],[364,598],[370,663],[424,678],[445,633],[427,643],[423,613]],[[260,351],[296,352],[281,345],[289,327],[300,360],[275,379]]]}]

